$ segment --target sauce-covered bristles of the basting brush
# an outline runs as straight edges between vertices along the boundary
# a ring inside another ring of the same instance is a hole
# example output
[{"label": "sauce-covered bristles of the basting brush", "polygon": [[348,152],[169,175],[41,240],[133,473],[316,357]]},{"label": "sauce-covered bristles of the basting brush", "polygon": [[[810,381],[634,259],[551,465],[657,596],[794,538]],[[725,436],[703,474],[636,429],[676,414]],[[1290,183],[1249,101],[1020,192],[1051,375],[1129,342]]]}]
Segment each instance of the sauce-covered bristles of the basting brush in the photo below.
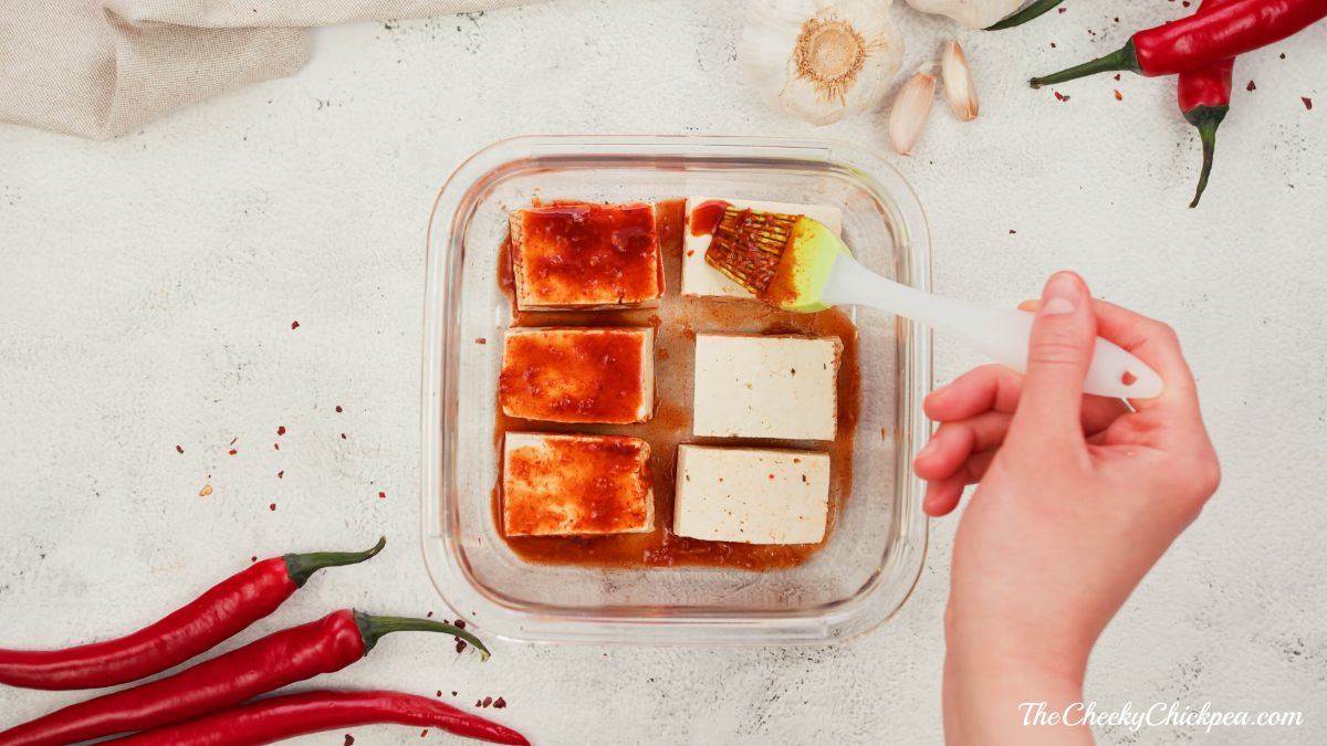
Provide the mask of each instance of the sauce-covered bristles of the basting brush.
[{"label": "sauce-covered bristles of the basting brush", "polygon": [[705,261],[747,291],[760,295],[774,280],[774,272],[792,238],[796,215],[758,212],[729,207],[723,211]]}]

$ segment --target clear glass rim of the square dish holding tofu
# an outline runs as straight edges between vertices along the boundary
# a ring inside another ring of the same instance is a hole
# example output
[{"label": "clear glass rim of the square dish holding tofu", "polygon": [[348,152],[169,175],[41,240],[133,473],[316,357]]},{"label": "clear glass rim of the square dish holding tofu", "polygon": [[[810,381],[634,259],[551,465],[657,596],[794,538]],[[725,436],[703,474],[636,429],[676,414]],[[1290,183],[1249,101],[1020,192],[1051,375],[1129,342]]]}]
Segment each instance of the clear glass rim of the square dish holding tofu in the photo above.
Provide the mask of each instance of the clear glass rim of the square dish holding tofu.
[{"label": "clear glass rim of the square dish holding tofu", "polygon": [[[743,612],[694,609],[669,616],[616,616],[576,613],[537,616],[508,608],[475,587],[458,567],[458,548],[443,524],[443,508],[454,508],[454,453],[446,443],[447,408],[455,406],[454,370],[447,352],[455,345],[459,300],[450,297],[450,272],[463,258],[453,251],[470,215],[462,207],[476,185],[503,166],[539,158],[621,158],[626,155],[717,162],[739,158],[774,158],[788,162],[833,163],[851,171],[859,185],[877,195],[890,195],[904,222],[908,240],[898,246],[897,280],[930,291],[930,230],[912,186],[889,163],[859,146],[827,139],[792,139],[727,135],[522,135],[479,150],[447,178],[429,216],[425,259],[425,308],[421,377],[421,550],[430,583],[453,612],[479,629],[524,642],[727,645],[727,644],[823,644],[868,632],[890,619],[912,595],[921,577],[928,547],[928,519],[921,510],[922,485],[910,469],[898,479],[890,551],[869,588],[819,613]],[[922,398],[932,388],[930,331],[897,319],[901,370],[900,419],[909,422],[909,438],[896,442],[897,463],[910,465],[924,445]],[[449,488],[445,491],[445,488]],[[446,499],[445,499],[446,498]],[[901,573],[889,593],[881,585]],[[645,607],[629,607],[644,609]],[[612,611],[605,607],[602,611]],[[817,609],[809,609],[816,612]]]}]

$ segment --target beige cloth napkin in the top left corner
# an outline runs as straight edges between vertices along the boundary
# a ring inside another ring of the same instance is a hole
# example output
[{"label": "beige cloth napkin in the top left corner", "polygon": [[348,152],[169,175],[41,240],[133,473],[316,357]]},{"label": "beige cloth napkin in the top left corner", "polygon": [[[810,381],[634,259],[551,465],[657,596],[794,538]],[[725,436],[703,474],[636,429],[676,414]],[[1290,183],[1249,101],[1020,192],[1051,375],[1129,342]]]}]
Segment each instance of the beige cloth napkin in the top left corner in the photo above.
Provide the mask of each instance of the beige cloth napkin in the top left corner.
[{"label": "beige cloth napkin in the top left corner", "polygon": [[0,121],[97,139],[288,76],[308,27],[522,0],[0,0]]}]

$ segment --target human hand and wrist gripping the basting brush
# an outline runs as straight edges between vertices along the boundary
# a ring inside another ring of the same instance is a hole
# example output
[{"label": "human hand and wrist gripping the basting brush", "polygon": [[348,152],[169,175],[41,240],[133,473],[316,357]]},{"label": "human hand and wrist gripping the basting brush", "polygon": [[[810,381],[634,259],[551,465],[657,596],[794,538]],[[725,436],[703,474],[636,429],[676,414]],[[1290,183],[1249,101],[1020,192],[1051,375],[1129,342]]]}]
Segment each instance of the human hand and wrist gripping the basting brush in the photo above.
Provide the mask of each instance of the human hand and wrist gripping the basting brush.
[{"label": "human hand and wrist gripping the basting brush", "polygon": [[[1164,393],[1131,402],[1136,411],[1084,396],[1097,333],[1157,370]],[[1093,301],[1062,272],[1036,305],[1026,377],[977,368],[925,410],[941,423],[913,463],[926,512],[949,514],[979,482],[954,538],[946,734],[1028,743],[1036,733],[1018,705],[1082,701],[1105,624],[1217,488],[1193,376],[1169,327]],[[1087,729],[1046,737],[1091,739]]]}]

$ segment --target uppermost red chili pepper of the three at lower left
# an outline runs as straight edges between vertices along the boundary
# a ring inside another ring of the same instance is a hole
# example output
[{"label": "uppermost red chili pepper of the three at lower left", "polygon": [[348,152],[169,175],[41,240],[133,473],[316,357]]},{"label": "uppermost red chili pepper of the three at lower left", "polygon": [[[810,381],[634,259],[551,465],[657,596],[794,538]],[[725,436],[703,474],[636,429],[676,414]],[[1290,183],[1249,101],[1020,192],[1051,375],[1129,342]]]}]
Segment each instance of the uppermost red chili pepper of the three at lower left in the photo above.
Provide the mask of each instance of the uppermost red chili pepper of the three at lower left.
[{"label": "uppermost red chili pepper of the three at lower left", "polygon": [[382,551],[285,555],[251,564],[188,605],[138,632],[60,650],[0,649],[0,684],[29,689],[96,689],[166,670],[276,611],[314,572]]}]

